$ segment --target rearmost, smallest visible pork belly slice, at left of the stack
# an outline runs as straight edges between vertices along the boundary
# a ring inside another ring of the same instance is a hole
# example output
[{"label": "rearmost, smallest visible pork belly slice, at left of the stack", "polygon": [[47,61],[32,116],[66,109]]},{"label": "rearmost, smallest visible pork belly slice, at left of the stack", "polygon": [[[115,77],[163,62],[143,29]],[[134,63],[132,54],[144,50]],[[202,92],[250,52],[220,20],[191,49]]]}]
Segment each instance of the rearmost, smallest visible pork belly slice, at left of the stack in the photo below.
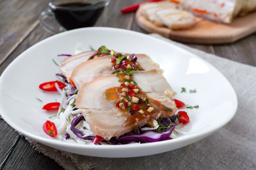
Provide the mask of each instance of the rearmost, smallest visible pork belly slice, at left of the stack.
[{"label": "rearmost, smallest visible pork belly slice, at left of the stack", "polygon": [[61,63],[60,72],[64,74],[64,76],[66,76],[67,80],[69,81],[73,69],[81,63],[87,61],[94,53],[95,51],[85,51],[80,54],[65,58]]}]

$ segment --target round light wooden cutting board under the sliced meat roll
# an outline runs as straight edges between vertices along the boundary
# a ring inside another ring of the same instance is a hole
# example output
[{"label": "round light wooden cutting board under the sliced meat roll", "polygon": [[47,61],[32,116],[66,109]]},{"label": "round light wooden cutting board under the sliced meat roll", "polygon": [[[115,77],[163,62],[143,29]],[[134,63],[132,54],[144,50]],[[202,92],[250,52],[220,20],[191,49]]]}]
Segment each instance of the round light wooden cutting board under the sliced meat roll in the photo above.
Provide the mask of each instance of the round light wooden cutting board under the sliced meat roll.
[{"label": "round light wooden cutting board under the sliced meat roll", "polygon": [[256,32],[256,12],[238,17],[229,25],[198,17],[196,18],[196,25],[191,29],[176,31],[154,25],[146,17],[142,16],[139,11],[137,11],[135,18],[142,29],[180,42],[199,44],[231,43]]}]

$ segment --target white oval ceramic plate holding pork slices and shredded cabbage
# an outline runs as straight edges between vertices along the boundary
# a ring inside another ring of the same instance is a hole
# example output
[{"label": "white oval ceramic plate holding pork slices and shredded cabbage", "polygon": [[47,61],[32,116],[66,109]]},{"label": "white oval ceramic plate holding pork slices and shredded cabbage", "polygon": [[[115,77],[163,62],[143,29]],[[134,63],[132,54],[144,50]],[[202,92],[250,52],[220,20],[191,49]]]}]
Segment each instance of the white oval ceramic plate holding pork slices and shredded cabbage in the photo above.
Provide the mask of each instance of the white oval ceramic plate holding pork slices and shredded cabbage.
[{"label": "white oval ceramic plate holding pork slices and shredded cabbage", "polygon": [[[49,116],[41,107],[58,100],[57,93],[42,92],[38,85],[56,80],[57,54],[74,54],[77,42],[82,49],[89,45],[129,53],[148,54],[164,69],[164,76],[177,92],[175,98],[199,109],[183,109],[190,122],[178,139],[130,145],[82,145],[59,141],[43,132],[42,125]],[[196,89],[197,93],[180,93],[181,87]],[[40,98],[43,102],[36,100]],[[138,157],[174,150],[203,139],[227,124],[237,110],[233,87],[216,68],[190,52],[157,38],[134,31],[114,28],[83,28],[47,38],[20,54],[0,77],[0,113],[18,132],[50,147],[95,157]]]}]

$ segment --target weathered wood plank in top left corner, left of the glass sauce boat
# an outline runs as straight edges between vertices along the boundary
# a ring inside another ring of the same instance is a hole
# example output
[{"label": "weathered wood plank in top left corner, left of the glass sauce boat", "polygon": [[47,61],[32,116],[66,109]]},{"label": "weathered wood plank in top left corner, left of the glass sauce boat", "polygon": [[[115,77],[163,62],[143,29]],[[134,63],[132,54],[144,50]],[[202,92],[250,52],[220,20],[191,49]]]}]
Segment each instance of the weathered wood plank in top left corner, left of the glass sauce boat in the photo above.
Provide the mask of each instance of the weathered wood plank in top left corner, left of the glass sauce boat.
[{"label": "weathered wood plank in top left corner, left of the glass sauce boat", "polygon": [[0,63],[39,24],[40,11],[50,0],[2,0],[0,2]]}]

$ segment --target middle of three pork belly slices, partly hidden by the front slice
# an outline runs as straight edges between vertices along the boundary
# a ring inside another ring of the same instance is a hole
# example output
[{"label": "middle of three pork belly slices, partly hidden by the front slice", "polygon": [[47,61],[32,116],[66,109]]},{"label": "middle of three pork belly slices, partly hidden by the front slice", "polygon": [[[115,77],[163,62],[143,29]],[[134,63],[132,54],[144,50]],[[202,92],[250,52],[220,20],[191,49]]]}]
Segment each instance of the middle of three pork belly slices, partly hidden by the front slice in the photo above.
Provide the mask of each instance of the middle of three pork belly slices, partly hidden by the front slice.
[{"label": "middle of three pork belly slices, partly hidden by the front slice", "polygon": [[[144,70],[159,69],[159,65],[145,54],[136,54],[137,62]],[[71,79],[77,89],[84,83],[88,83],[95,78],[112,73],[112,56],[96,57],[77,66],[72,72]]]}]

